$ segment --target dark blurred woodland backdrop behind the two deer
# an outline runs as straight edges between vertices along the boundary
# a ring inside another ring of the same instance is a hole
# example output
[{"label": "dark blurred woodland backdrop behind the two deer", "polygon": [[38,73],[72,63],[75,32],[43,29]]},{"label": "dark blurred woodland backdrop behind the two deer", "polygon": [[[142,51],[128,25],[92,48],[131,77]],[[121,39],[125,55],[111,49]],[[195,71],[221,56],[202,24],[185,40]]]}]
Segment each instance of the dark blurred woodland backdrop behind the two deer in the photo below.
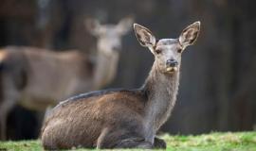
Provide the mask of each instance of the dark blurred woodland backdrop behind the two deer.
[{"label": "dark blurred woodland backdrop behind the two deer", "polygon": [[[177,38],[201,21],[200,36],[183,54],[177,102],[161,131],[200,134],[256,126],[256,2],[253,0],[1,0],[0,45],[27,45],[94,54],[86,18],[117,24],[132,15],[156,38]],[[132,28],[132,26],[131,26]],[[131,31],[122,38],[118,75],[105,88],[142,85],[153,55]],[[38,112],[15,107],[9,139],[38,137]]]}]

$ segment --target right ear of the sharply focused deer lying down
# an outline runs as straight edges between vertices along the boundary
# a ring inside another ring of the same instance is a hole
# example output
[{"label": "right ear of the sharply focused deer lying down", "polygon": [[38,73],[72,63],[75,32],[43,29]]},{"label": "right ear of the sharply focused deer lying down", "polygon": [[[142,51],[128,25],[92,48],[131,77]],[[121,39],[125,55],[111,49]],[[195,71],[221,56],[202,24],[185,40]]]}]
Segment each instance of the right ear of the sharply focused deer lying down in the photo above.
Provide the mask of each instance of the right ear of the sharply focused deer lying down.
[{"label": "right ear of the sharply focused deer lying down", "polygon": [[188,45],[192,45],[200,31],[200,22],[195,22],[192,25],[187,26],[183,31],[181,32],[178,40],[180,44],[185,48]]}]

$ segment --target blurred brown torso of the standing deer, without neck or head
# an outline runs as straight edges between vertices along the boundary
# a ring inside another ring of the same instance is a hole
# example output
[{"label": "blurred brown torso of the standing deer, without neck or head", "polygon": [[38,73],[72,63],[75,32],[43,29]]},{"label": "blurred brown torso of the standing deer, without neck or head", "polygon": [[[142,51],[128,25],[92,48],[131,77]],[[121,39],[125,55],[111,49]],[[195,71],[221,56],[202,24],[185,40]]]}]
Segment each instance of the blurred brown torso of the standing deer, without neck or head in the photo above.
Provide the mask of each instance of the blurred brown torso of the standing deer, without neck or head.
[{"label": "blurred brown torso of the standing deer, without neck or head", "polygon": [[11,100],[27,109],[44,110],[57,104],[58,98],[91,90],[93,63],[79,51],[9,46],[0,53],[5,54],[1,62],[3,96],[12,92],[19,99]]}]

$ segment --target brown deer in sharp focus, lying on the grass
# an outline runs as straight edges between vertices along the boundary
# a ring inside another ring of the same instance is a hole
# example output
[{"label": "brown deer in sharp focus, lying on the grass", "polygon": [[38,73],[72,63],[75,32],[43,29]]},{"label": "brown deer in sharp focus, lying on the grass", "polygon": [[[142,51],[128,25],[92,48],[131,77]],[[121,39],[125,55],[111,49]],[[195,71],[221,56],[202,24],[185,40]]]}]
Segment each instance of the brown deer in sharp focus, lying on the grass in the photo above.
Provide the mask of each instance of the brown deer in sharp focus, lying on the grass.
[{"label": "brown deer in sharp focus, lying on the grass", "polygon": [[60,103],[42,128],[45,149],[166,147],[155,134],[174,108],[181,54],[196,41],[200,22],[186,27],[178,39],[156,41],[148,28],[135,24],[134,29],[138,42],[155,56],[144,85],[89,92]]}]

